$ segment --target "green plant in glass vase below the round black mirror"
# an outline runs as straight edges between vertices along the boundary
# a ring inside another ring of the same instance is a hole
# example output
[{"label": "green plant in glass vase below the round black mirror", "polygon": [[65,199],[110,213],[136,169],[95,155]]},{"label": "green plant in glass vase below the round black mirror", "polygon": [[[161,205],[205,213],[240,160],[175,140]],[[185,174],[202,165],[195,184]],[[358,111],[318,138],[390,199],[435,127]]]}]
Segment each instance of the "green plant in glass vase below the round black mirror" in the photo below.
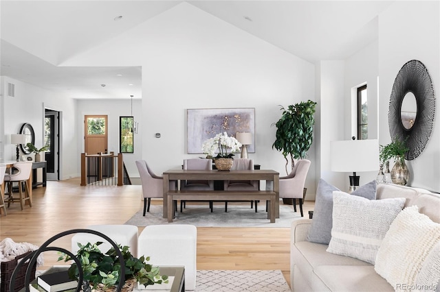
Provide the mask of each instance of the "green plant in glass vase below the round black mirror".
[{"label": "green plant in glass vase below the round black mirror", "polygon": [[394,184],[406,185],[410,179],[410,171],[405,163],[405,154],[409,148],[406,146],[406,141],[395,139],[388,145],[380,145],[380,162],[384,165],[393,159],[395,165],[391,169],[391,180]]}]

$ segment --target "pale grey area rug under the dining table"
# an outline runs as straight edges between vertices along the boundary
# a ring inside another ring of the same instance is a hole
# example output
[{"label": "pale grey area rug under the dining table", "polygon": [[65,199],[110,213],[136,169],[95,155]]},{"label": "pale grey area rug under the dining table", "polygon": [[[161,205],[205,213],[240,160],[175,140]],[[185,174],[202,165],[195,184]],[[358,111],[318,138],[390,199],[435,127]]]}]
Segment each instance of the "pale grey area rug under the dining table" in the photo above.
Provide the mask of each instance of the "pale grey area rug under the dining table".
[{"label": "pale grey area rug under the dining table", "polygon": [[168,223],[162,218],[162,205],[152,205],[150,212],[142,216],[142,210],[138,211],[125,224],[134,226],[149,226],[159,224],[192,224],[197,227],[283,227],[288,228],[292,221],[301,219],[300,212],[294,212],[291,205],[280,205],[280,218],[275,223],[270,223],[265,212],[265,204],[259,204],[258,212],[249,206],[228,204],[228,212],[225,212],[224,204],[214,205],[214,212],[210,212],[208,203],[205,205],[187,205],[183,212],[175,213],[173,223]]}]

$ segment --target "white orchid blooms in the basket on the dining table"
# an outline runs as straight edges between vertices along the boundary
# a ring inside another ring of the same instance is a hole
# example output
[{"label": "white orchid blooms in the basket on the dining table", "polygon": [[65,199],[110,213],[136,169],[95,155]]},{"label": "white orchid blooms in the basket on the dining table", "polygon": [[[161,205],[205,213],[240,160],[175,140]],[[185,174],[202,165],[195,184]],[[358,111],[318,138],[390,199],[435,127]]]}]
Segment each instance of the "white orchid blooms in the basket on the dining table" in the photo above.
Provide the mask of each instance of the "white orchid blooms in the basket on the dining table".
[{"label": "white orchid blooms in the basket on the dining table", "polygon": [[[226,132],[217,134],[214,138],[209,138],[203,141],[201,145],[201,150],[208,157],[213,157],[215,151],[219,149],[219,154],[217,158],[232,158],[235,152],[240,151],[241,143],[232,136],[228,136]],[[228,148],[230,149],[230,154],[228,154]]]}]

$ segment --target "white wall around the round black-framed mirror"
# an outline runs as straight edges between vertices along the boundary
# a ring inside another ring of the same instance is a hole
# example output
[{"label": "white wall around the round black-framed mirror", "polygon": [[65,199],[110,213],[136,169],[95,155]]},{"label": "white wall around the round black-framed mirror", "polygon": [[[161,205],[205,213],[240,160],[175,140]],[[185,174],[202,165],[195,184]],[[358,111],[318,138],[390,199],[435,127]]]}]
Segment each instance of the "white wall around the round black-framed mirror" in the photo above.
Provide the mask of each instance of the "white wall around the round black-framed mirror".
[{"label": "white wall around the round black-framed mirror", "polygon": [[388,104],[397,73],[409,60],[419,60],[430,73],[436,94],[436,117],[423,153],[408,162],[411,186],[440,191],[440,3],[395,1],[379,17],[379,143],[391,141]]}]

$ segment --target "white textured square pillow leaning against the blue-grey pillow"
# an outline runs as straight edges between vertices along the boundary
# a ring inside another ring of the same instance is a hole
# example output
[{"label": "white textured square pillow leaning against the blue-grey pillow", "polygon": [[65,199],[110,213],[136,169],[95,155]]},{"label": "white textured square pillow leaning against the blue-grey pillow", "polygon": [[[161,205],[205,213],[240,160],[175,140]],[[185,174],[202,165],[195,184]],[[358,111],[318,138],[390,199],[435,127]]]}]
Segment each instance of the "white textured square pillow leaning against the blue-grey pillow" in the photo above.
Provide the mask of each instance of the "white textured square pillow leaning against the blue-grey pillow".
[{"label": "white textured square pillow leaning against the blue-grey pillow", "polygon": [[369,200],[334,191],[333,228],[327,252],[374,265],[382,239],[404,204],[404,197]]}]

